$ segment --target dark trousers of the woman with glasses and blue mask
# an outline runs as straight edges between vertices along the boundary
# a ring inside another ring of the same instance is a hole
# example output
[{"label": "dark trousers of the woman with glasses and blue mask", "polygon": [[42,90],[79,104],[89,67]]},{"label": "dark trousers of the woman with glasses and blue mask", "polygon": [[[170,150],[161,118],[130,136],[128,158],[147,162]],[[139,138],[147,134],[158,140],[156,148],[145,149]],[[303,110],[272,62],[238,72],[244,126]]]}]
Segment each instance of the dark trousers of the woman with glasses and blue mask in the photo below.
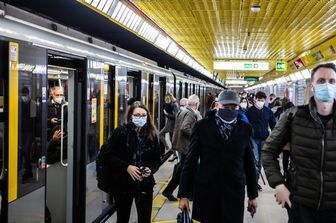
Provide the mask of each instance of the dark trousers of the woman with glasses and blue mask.
[{"label": "dark trousers of the woman with glasses and blue mask", "polygon": [[150,223],[153,204],[153,191],[134,192],[134,193],[115,193],[113,194],[117,209],[117,223],[128,223],[133,198],[138,213],[138,223]]}]

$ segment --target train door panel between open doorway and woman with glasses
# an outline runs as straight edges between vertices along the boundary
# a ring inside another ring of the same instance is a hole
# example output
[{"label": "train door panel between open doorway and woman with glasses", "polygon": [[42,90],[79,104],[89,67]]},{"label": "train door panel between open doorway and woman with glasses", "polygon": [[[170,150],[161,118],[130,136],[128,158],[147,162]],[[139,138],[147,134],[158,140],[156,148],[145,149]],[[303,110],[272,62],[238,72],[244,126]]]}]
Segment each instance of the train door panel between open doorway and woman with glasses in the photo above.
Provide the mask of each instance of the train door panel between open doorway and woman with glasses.
[{"label": "train door panel between open doorway and woman with glasses", "polygon": [[108,194],[97,188],[96,158],[104,143],[104,63],[88,60],[86,102],[86,208],[85,222],[93,222],[109,207]]}]

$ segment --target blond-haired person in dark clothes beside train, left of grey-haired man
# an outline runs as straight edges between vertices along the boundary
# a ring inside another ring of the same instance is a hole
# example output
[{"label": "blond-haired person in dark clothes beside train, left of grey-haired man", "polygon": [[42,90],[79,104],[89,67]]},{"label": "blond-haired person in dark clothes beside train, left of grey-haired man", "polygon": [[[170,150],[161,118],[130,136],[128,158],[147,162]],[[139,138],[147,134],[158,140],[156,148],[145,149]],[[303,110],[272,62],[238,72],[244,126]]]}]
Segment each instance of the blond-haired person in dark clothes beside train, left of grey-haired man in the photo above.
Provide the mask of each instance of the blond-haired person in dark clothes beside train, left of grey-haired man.
[{"label": "blond-haired person in dark clothes beside train, left of grey-haired man", "polygon": [[165,96],[165,103],[163,104],[163,113],[166,117],[166,124],[160,131],[160,141],[164,144],[166,152],[170,150],[166,141],[166,134],[169,133],[169,139],[173,138],[173,131],[175,126],[175,115],[178,112],[178,106],[175,105],[176,99],[170,93]]}]

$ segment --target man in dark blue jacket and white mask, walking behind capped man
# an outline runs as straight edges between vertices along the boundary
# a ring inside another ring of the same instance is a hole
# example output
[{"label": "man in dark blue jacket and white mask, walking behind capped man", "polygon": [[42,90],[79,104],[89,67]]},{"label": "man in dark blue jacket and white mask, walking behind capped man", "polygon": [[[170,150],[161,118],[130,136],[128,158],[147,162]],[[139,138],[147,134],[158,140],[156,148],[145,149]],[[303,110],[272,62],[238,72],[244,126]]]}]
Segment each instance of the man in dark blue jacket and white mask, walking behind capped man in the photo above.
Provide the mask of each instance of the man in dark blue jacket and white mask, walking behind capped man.
[{"label": "man in dark blue jacket and white mask, walking behind capped man", "polygon": [[[276,124],[274,114],[271,109],[265,106],[266,94],[259,91],[255,95],[254,106],[250,107],[246,111],[246,116],[253,127],[253,153],[257,168],[257,181],[259,180],[261,171],[261,148],[263,147],[266,138],[269,135],[269,128],[271,130]],[[262,190],[261,186],[258,184],[258,189]]]}]

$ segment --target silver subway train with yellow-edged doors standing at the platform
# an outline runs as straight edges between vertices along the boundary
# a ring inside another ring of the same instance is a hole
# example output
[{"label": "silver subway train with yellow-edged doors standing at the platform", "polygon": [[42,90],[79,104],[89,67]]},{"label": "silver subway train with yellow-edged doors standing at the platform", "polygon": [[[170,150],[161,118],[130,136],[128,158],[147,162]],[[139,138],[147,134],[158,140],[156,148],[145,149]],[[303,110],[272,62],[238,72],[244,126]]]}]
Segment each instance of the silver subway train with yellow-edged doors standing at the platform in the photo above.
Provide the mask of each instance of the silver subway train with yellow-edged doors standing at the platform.
[{"label": "silver subway train with yellow-edged doors standing at the platform", "polygon": [[[113,213],[97,188],[100,146],[142,101],[158,129],[166,93],[179,100],[221,87],[14,7],[0,9],[0,222],[101,222]],[[18,18],[19,16],[20,18]],[[53,23],[55,24],[55,23]],[[46,163],[49,89],[64,89],[59,162]],[[66,111],[66,112],[65,112]],[[51,219],[51,220],[50,220]]]}]

